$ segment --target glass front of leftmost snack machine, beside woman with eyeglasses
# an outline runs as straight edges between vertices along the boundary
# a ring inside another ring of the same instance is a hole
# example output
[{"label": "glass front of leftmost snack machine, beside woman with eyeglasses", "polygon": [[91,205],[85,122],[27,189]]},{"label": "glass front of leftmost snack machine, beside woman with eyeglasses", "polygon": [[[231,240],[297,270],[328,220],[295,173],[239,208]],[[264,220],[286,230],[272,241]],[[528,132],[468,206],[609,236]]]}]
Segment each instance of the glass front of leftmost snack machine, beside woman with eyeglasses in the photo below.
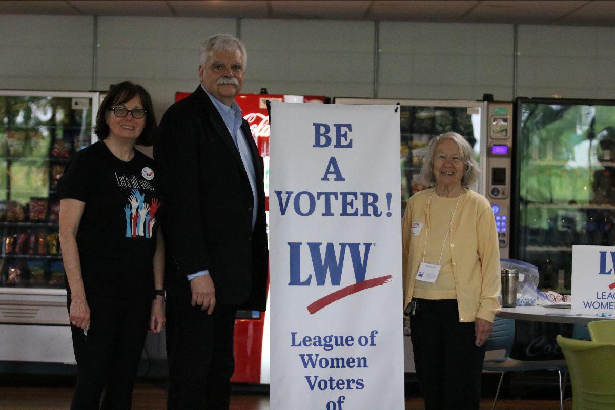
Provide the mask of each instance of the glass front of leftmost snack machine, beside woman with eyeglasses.
[{"label": "glass front of leftmost snack machine, beside woman with eyeglasses", "polygon": [[64,288],[57,183],[89,146],[95,93],[0,92],[0,287]]}]

